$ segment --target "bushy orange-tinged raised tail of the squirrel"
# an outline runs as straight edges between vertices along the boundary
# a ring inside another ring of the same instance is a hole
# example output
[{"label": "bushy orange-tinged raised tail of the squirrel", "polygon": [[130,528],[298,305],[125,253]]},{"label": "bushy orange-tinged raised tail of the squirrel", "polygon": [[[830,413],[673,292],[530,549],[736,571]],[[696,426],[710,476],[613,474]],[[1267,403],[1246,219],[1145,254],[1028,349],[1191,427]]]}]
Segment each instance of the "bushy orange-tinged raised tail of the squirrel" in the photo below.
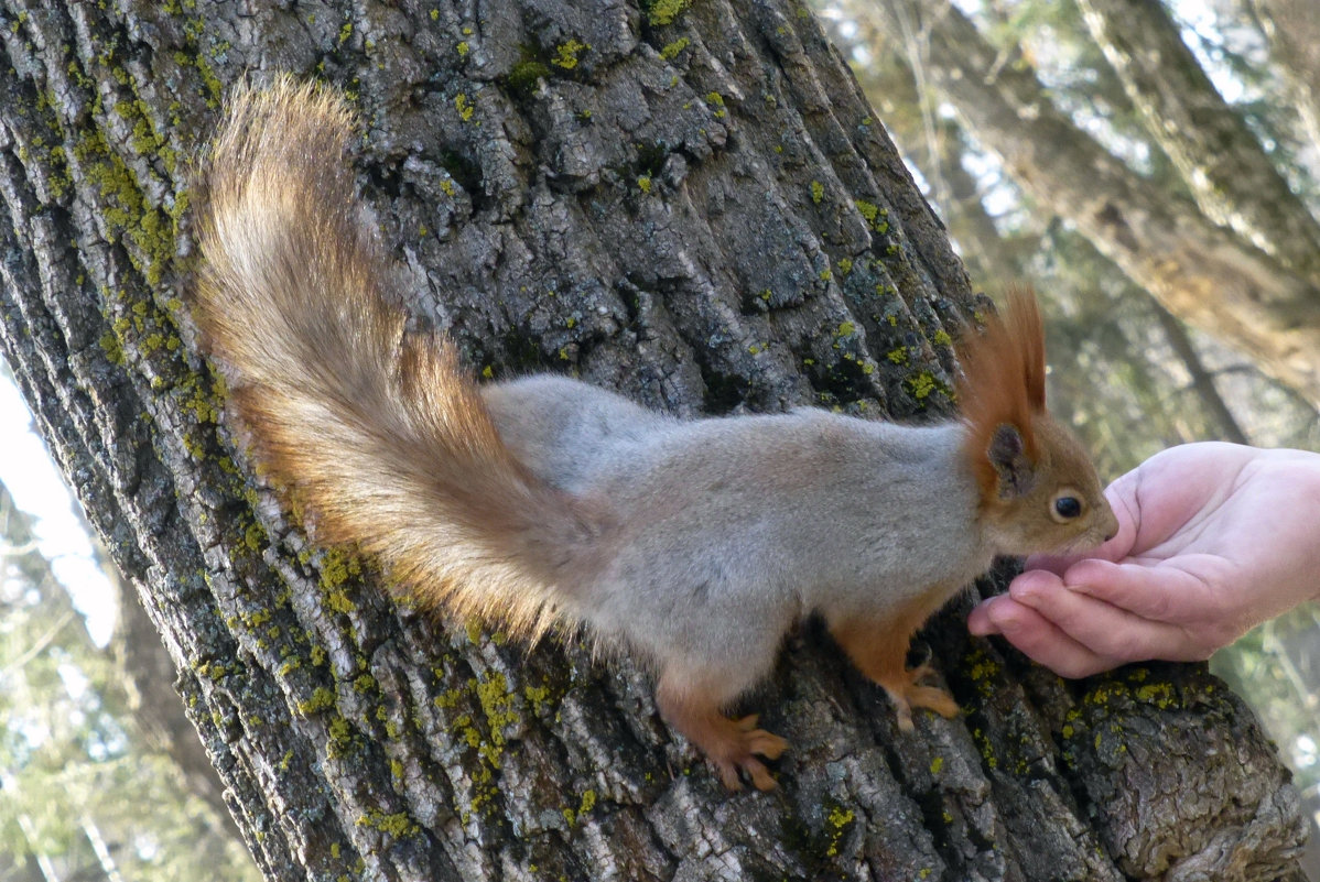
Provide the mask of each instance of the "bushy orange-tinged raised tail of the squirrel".
[{"label": "bushy orange-tinged raised tail of the squirrel", "polygon": [[198,323],[318,538],[376,555],[424,603],[535,637],[602,517],[511,455],[447,339],[405,332],[345,160],[352,129],[315,84],[231,99],[202,181]]}]

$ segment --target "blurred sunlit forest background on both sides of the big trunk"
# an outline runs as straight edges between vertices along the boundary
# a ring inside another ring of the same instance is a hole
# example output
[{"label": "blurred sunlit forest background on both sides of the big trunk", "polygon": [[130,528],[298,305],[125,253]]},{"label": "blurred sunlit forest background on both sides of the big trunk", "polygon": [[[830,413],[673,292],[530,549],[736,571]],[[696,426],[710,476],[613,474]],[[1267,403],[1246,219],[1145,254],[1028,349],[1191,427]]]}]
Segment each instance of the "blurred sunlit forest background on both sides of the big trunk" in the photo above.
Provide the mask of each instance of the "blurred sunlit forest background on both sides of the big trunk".
[{"label": "blurred sunlit forest background on both sides of the big trunk", "polygon": [[[1320,451],[1315,0],[813,5],[974,286],[1040,291],[1052,407],[1106,479],[1189,440]],[[51,523],[0,488],[0,879],[256,879],[132,589],[66,575],[99,558]],[[1315,816],[1317,608],[1212,666]]]}]

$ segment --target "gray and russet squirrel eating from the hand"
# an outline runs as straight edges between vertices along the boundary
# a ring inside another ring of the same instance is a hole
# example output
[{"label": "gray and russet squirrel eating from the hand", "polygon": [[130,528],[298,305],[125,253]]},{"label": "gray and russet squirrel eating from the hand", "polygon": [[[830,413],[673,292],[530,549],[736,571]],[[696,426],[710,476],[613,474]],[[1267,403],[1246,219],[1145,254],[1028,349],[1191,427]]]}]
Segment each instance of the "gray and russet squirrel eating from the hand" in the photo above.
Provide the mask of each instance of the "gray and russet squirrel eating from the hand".
[{"label": "gray and russet squirrel eating from the hand", "polygon": [[1117,521],[1045,410],[1020,290],[969,335],[961,419],[818,409],[678,419],[561,376],[478,384],[405,327],[333,87],[240,86],[201,178],[193,312],[251,454],[313,535],[424,608],[535,641],[583,629],[656,676],[665,721],[722,782],[775,787],[788,744],[726,716],[793,624],[820,614],[890,696],[945,717],[911,635],[995,555],[1084,551]]}]

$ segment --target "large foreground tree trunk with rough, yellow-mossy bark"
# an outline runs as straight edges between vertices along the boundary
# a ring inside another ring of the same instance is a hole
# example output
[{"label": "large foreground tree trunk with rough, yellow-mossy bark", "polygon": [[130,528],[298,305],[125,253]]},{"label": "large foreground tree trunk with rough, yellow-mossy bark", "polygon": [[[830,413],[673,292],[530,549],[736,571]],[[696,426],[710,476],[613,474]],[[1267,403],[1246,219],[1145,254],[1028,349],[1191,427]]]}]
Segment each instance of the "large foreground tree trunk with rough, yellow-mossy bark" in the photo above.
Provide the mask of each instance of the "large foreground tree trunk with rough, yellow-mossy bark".
[{"label": "large foreground tree trunk with rough, yellow-mossy bark", "polygon": [[1068,684],[954,612],[966,713],[903,736],[808,625],[747,703],[781,787],[730,795],[627,661],[396,606],[235,467],[180,291],[187,156],[244,70],[350,91],[407,306],[478,372],[946,414],[977,302],[805,8],[4,9],[4,352],[269,878],[1292,878],[1296,794],[1201,666]]}]

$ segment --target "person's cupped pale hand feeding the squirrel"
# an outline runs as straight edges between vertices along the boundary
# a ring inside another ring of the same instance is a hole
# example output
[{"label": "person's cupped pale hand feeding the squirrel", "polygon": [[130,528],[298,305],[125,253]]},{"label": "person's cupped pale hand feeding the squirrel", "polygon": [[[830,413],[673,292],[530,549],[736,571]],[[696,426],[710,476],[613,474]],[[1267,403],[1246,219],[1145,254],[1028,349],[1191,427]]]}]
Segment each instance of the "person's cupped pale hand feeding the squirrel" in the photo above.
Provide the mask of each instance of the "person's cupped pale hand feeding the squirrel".
[{"label": "person's cupped pale hand feeding the squirrel", "polygon": [[1063,676],[1200,661],[1320,592],[1320,454],[1201,443],[1106,490],[1118,534],[1086,558],[1027,559],[968,618]]}]

